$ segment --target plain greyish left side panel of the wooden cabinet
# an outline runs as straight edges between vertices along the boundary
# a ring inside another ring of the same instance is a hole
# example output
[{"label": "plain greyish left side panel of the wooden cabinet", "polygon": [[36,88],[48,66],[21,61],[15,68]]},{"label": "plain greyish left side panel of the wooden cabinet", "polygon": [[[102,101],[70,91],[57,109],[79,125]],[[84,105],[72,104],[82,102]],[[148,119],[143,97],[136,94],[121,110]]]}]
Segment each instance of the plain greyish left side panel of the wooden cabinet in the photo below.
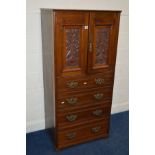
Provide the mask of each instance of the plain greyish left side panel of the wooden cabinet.
[{"label": "plain greyish left side panel of the wooden cabinet", "polygon": [[55,127],[54,28],[50,10],[41,10],[45,128]]}]

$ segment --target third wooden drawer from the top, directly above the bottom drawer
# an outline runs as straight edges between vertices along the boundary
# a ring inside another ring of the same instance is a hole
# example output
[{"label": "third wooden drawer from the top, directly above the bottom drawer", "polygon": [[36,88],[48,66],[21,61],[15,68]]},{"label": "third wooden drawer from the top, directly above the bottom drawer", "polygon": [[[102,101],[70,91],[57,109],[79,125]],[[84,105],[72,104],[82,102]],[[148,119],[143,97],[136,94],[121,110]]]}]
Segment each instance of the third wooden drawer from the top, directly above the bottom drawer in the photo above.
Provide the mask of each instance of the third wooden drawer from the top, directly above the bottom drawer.
[{"label": "third wooden drawer from the top, directly above the bottom drawer", "polygon": [[71,126],[85,124],[88,121],[107,119],[110,115],[111,106],[96,106],[93,108],[81,108],[73,112],[62,112],[58,114],[58,128],[64,129]]}]

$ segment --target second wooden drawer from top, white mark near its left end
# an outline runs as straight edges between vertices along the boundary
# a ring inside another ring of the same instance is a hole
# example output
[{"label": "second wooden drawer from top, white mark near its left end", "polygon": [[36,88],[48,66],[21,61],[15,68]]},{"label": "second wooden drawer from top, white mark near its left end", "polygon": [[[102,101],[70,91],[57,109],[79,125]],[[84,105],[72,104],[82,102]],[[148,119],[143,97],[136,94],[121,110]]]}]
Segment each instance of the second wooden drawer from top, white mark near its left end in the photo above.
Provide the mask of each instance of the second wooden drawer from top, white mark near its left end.
[{"label": "second wooden drawer from top, white mark near its left end", "polygon": [[59,110],[73,110],[96,104],[111,104],[112,87],[91,89],[85,92],[59,93],[56,100]]}]

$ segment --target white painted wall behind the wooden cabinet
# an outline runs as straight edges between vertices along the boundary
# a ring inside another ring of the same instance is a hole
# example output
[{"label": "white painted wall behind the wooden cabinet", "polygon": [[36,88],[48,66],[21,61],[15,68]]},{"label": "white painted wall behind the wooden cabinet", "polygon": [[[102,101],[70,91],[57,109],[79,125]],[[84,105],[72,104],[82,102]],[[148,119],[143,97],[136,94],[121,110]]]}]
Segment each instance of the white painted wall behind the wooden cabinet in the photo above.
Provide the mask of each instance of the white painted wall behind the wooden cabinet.
[{"label": "white painted wall behind the wooden cabinet", "polygon": [[45,128],[40,8],[122,10],[112,113],[128,110],[128,0],[27,0],[27,132]]}]

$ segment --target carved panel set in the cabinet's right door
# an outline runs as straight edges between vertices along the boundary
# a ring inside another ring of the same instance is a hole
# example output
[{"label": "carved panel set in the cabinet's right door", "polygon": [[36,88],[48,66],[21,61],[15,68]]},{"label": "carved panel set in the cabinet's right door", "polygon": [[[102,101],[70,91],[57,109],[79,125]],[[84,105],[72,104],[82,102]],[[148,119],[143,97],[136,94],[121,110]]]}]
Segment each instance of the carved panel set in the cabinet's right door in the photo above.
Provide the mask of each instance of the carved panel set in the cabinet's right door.
[{"label": "carved panel set in the cabinet's right door", "polygon": [[96,29],[96,64],[106,64],[109,47],[110,28]]}]

